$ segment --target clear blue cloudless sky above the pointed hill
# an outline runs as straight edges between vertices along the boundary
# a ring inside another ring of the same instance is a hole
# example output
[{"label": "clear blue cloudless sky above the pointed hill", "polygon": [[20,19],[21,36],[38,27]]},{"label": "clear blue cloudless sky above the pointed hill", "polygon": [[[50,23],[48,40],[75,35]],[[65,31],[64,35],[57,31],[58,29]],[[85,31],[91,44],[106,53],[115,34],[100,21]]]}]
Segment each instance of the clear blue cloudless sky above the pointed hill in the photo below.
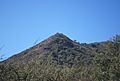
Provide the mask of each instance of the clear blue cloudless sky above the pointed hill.
[{"label": "clear blue cloudless sky above the pointed hill", "polygon": [[0,0],[0,54],[9,57],[62,32],[82,42],[120,34],[120,0]]}]

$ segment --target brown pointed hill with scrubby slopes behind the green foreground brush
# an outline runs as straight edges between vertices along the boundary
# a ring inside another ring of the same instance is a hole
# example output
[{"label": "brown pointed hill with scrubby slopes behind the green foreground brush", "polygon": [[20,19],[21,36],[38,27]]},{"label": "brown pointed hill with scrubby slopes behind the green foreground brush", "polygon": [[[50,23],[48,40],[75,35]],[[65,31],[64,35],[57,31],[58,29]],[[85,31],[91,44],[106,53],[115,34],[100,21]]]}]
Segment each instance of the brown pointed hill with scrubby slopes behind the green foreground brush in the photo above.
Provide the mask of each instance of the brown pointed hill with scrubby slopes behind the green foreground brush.
[{"label": "brown pointed hill with scrubby slopes behind the green foreground brush", "polygon": [[95,54],[94,48],[87,45],[80,45],[72,41],[67,36],[56,33],[41,43],[16,54],[5,63],[25,65],[31,61],[40,61],[41,59],[51,56],[58,64],[69,63],[71,65],[78,62],[89,63],[90,56]]}]

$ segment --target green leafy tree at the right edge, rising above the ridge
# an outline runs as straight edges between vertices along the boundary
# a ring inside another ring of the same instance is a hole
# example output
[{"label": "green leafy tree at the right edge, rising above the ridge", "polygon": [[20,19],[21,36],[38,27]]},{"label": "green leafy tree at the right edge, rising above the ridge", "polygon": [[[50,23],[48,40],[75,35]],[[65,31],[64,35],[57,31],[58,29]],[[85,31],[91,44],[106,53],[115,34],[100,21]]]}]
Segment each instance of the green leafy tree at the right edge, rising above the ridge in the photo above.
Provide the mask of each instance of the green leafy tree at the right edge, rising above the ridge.
[{"label": "green leafy tree at the right edge, rising above the ridge", "polygon": [[110,51],[96,54],[95,81],[120,81],[120,35],[116,35],[110,44]]}]

